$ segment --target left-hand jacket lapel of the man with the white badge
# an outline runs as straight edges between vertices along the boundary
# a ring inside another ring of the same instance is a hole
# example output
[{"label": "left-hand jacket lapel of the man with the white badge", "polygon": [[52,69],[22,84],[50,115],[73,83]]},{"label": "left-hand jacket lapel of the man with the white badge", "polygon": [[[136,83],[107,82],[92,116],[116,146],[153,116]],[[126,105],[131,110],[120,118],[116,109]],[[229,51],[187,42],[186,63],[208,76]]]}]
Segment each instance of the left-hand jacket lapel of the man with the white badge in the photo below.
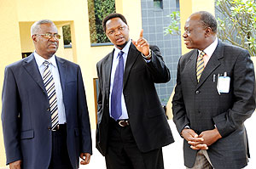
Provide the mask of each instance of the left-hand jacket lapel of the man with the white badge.
[{"label": "left-hand jacket lapel of the man with the white badge", "polygon": [[197,85],[197,79],[195,74],[196,60],[197,60],[197,50],[194,50],[194,53],[190,56],[190,61],[186,66],[188,66],[189,76],[191,78],[191,81],[195,84],[195,86]]}]

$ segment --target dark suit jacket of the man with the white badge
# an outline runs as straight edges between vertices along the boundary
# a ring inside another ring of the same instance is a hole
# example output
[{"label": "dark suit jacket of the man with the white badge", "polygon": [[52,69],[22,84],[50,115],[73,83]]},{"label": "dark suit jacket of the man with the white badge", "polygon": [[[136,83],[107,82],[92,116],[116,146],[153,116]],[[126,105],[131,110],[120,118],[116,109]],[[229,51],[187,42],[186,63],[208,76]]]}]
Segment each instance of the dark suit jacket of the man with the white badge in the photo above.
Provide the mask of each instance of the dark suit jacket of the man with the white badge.
[{"label": "dark suit jacket of the man with the white badge", "polygon": [[[247,133],[243,122],[255,109],[254,70],[247,50],[218,41],[218,46],[197,83],[197,50],[184,54],[177,67],[177,87],[172,100],[173,121],[178,132],[189,126],[198,134],[214,125],[223,138],[207,150],[214,168],[242,168],[247,165]],[[230,92],[217,91],[217,76],[230,76]],[[213,81],[216,77],[215,82]],[[196,150],[183,143],[185,166],[192,167]]]}]

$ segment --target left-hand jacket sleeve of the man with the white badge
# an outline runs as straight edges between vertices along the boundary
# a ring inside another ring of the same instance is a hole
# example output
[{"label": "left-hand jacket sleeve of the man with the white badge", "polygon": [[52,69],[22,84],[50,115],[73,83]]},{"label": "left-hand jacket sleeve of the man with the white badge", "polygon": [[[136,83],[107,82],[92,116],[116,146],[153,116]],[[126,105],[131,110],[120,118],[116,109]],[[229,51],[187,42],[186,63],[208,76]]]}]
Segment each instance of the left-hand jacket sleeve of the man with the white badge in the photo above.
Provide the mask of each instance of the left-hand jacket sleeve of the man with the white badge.
[{"label": "left-hand jacket sleeve of the man with the white badge", "polygon": [[180,80],[180,60],[177,65],[177,84],[172,99],[172,114],[177,131],[181,134],[183,128],[189,126],[189,119],[187,118],[185,104],[183,101],[183,91]]}]

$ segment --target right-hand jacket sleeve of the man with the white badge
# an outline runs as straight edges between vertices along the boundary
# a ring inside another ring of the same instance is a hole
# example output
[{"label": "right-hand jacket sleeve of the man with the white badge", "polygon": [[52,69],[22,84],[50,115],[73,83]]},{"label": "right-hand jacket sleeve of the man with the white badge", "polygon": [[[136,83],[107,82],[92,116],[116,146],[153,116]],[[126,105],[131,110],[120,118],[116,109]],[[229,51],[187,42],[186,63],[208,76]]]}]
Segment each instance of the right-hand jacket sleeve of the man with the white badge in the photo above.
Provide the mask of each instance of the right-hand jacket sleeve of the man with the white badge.
[{"label": "right-hand jacket sleeve of the man with the white badge", "polygon": [[213,117],[222,137],[229,135],[237,127],[241,127],[241,124],[253,114],[255,109],[254,84],[253,62],[248,52],[242,50],[234,65],[233,80],[231,79],[230,83],[230,90],[233,89],[234,104],[231,109]]}]

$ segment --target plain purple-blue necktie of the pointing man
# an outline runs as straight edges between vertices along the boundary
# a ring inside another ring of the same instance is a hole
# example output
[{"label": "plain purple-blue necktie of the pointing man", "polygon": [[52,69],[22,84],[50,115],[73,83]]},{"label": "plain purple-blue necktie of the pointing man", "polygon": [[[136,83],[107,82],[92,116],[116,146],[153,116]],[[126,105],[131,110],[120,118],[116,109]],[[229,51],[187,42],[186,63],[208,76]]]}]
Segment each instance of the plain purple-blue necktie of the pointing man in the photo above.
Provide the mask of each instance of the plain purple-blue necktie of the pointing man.
[{"label": "plain purple-blue necktie of the pointing man", "polygon": [[123,51],[119,52],[119,65],[117,65],[114,79],[113,88],[111,93],[111,115],[115,121],[119,120],[122,115],[121,96],[123,92],[123,76],[124,76],[124,59]]}]

